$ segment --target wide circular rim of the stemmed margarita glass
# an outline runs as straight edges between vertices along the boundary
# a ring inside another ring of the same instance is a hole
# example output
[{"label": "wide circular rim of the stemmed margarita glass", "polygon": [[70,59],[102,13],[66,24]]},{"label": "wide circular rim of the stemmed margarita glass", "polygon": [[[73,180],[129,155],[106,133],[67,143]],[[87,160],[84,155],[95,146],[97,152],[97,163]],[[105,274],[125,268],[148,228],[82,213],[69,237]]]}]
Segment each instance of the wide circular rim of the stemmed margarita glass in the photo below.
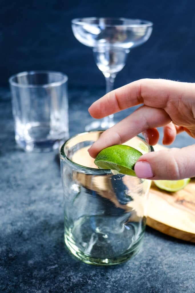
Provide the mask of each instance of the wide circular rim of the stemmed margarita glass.
[{"label": "wide circular rim of the stemmed margarita glass", "polygon": [[139,18],[125,18],[125,17],[82,17],[82,18],[74,18],[71,20],[71,23],[73,24],[79,24],[79,25],[86,25],[86,24],[91,24],[91,25],[95,25],[98,26],[98,23],[87,23],[85,21],[83,21],[84,19],[86,20],[100,20],[100,19],[108,19],[108,20],[116,20],[116,21],[125,21],[125,20],[131,20],[131,21],[142,21],[143,24],[104,24],[105,27],[115,27],[115,26],[119,26],[119,27],[149,27],[149,26],[153,26],[153,23],[151,21],[147,21],[147,20],[142,20]]}]

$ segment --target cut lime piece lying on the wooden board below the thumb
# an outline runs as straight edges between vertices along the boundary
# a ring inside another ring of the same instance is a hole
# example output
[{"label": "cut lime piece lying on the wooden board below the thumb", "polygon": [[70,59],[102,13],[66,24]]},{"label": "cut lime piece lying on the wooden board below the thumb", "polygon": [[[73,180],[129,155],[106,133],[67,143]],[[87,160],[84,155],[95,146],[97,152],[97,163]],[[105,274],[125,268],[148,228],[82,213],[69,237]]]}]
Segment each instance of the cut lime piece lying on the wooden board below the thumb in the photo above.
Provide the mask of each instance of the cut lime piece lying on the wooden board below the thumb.
[{"label": "cut lime piece lying on the wooden board below the thumb", "polygon": [[178,191],[184,188],[190,181],[190,178],[182,180],[154,180],[155,185],[166,191]]}]

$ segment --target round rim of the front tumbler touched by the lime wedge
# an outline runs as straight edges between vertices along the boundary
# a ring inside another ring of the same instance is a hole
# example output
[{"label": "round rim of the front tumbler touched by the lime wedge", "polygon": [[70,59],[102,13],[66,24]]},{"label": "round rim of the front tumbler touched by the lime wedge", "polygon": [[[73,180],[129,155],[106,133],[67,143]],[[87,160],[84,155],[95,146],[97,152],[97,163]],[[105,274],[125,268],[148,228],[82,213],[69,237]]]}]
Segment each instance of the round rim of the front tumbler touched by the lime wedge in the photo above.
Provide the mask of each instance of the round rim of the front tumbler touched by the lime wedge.
[{"label": "round rim of the front tumbler touched by the lime wedge", "polygon": [[[82,133],[79,133],[79,134],[75,134],[74,136],[70,137],[69,139],[67,139],[63,143],[63,145],[61,146],[61,149],[60,149],[60,156],[63,157],[63,160],[68,160],[68,162],[70,162],[70,164],[72,166],[76,166],[77,168],[79,168],[79,169],[81,169],[83,171],[96,172],[96,173],[98,173],[97,175],[110,175],[111,174],[111,170],[110,169],[91,168],[91,167],[87,167],[87,166],[83,166],[83,165],[77,164],[77,163],[73,162],[71,159],[69,159],[65,155],[65,152],[64,152],[65,144],[68,143],[71,139],[73,139],[73,138],[75,138],[77,136],[81,136],[83,134],[89,134],[91,132],[103,132],[103,131],[104,130],[93,130],[93,131],[86,131],[86,132],[82,132]],[[153,147],[151,145],[147,144],[146,140],[143,137],[141,137],[140,135],[136,135],[136,137],[138,137],[139,139],[141,139],[150,148],[151,151],[154,151]]]}]

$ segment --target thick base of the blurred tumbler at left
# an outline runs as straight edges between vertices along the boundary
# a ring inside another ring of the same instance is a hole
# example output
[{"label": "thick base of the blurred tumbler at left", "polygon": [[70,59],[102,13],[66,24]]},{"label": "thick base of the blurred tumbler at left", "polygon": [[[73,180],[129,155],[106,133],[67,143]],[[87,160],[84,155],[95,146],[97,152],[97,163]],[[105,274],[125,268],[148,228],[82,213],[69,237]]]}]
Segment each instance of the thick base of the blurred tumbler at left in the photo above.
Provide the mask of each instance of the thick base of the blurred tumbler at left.
[{"label": "thick base of the blurred tumbler at left", "polygon": [[59,149],[62,144],[67,140],[64,139],[56,139],[56,140],[45,140],[45,141],[34,141],[34,142],[26,142],[22,139],[15,138],[18,146],[25,151],[34,151],[34,152],[49,152]]}]

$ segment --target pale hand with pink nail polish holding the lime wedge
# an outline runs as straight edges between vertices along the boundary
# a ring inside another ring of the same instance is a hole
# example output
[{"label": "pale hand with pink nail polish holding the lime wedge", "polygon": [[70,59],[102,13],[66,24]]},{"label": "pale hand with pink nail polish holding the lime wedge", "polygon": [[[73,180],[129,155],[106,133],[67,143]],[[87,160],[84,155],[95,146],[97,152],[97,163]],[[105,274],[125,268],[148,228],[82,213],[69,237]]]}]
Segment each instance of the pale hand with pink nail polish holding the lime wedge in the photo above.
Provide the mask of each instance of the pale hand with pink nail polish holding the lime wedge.
[{"label": "pale hand with pink nail polish holding the lime wedge", "polygon": [[[149,144],[155,145],[159,139],[156,127],[161,126],[165,145],[182,131],[195,138],[194,83],[141,79],[107,93],[91,105],[89,113],[99,119],[139,104],[131,115],[103,132],[89,149],[93,158],[102,149],[125,143],[141,132]],[[153,180],[195,177],[195,144],[144,154],[134,170],[137,177]]]}]

